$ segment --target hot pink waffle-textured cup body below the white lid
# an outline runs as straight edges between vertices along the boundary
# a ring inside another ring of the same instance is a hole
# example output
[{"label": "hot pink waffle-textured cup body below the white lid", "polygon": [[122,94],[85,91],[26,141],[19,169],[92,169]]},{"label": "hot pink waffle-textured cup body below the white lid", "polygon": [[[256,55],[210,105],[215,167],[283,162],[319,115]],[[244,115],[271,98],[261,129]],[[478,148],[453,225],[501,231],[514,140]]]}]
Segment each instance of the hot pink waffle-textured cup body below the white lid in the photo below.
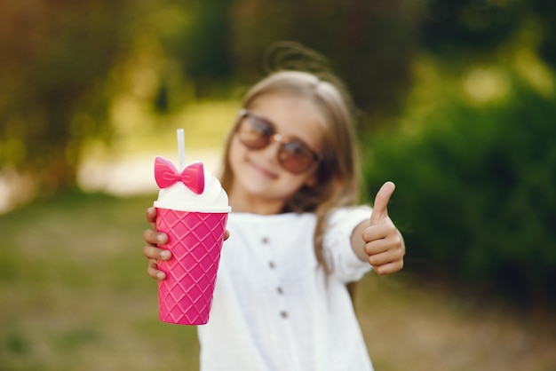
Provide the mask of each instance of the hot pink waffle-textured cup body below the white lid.
[{"label": "hot pink waffle-textured cup body below the white lid", "polygon": [[169,261],[159,261],[166,279],[158,283],[163,322],[203,325],[209,320],[227,213],[157,209],[156,230],[168,235]]}]

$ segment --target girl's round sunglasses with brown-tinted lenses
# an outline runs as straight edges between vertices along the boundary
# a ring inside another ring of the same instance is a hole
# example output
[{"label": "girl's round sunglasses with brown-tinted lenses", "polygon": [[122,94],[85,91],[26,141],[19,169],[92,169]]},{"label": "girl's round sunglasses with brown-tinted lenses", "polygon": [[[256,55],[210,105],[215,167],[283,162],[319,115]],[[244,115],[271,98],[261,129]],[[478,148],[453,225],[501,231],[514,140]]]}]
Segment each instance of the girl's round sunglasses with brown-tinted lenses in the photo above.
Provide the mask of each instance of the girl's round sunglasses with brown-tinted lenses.
[{"label": "girl's round sunglasses with brown-tinted lenses", "polygon": [[309,169],[314,162],[321,161],[318,154],[301,140],[284,138],[276,133],[274,124],[262,117],[242,109],[235,132],[243,146],[249,149],[263,149],[271,142],[280,143],[278,162],[282,168],[292,173],[300,173]]}]

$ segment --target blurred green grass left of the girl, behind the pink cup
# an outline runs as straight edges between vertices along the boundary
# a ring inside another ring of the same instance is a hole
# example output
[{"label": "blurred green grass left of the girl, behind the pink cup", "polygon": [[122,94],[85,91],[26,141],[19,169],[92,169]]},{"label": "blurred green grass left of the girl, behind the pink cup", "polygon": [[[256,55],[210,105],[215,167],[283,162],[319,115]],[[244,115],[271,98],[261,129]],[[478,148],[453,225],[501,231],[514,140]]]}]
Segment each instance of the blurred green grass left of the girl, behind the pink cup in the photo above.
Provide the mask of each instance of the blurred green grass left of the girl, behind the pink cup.
[{"label": "blurred green grass left of the girl, behind the pink cup", "polygon": [[195,328],[157,318],[141,254],[150,204],[65,194],[0,217],[3,370],[198,367]]}]

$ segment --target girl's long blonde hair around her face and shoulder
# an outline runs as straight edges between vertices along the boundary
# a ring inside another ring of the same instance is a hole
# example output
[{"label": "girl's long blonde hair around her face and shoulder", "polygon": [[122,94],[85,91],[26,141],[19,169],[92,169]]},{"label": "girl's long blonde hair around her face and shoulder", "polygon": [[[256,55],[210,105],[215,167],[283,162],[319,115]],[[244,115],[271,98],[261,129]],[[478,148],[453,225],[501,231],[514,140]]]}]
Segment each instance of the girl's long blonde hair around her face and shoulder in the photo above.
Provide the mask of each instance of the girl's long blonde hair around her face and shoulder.
[{"label": "girl's long blonde hair around her face and shoulder", "polygon": [[[314,212],[317,224],[314,231],[314,253],[317,261],[330,273],[322,248],[326,220],[330,211],[338,207],[353,206],[359,199],[360,166],[359,154],[354,139],[351,100],[339,80],[329,75],[320,78],[301,71],[281,71],[268,75],[245,94],[242,107],[250,105],[266,94],[292,94],[309,99],[324,118],[322,160],[316,170],[314,186],[302,186],[286,201],[282,212]],[[234,181],[227,154],[234,136],[231,130],[226,140],[222,186],[230,189]]]}]

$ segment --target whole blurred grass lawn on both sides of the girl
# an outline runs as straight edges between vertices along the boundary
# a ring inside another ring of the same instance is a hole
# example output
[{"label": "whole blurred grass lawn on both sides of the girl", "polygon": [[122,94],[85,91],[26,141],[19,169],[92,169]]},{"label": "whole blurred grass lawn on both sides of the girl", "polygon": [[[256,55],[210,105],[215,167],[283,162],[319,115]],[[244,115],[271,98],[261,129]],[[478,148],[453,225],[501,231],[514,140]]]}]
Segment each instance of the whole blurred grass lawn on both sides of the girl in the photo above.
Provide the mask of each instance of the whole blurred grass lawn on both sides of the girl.
[{"label": "whole blurred grass lawn on both sides of the girl", "polygon": [[[154,197],[66,193],[0,216],[1,369],[198,368],[195,328],[158,320],[145,272]],[[542,308],[518,312],[438,281],[370,273],[356,309],[380,371],[556,365],[556,316]]]}]

